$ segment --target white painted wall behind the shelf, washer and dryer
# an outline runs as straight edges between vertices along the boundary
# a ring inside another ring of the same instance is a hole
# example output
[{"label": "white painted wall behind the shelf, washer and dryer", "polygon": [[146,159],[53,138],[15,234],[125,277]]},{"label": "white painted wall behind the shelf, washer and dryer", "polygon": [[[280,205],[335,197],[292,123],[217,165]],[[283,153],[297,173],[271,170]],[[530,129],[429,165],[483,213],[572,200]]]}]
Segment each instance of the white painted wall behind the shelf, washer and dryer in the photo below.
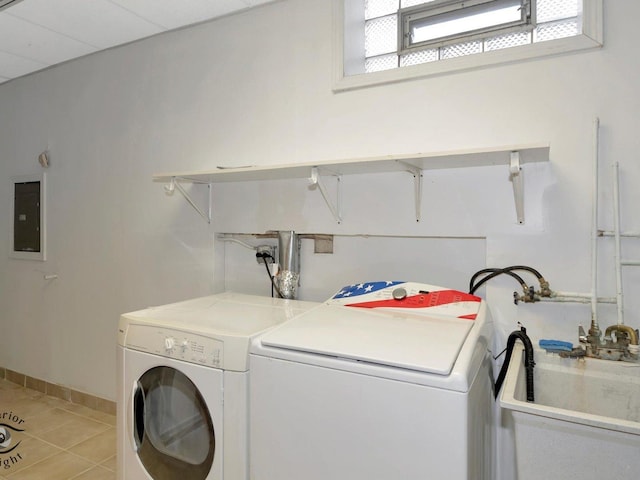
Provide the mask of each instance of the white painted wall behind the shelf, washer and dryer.
[{"label": "white painted wall behind the shelf, washer and dryer", "polygon": [[[334,94],[331,2],[285,0],[1,85],[0,221],[7,232],[9,177],[38,171],[37,155],[47,148],[52,166],[49,259],[9,259],[9,234],[0,238],[0,365],[114,399],[118,315],[223,288],[224,269],[214,278],[214,243],[222,248],[216,232],[335,233],[344,235],[347,251],[368,248],[348,235],[407,237],[398,239],[399,250],[409,244],[420,250],[409,237],[456,236],[471,243],[457,252],[455,276],[429,275],[446,265],[434,253],[407,261],[404,277],[465,288],[485,264],[528,264],[552,288],[588,291],[596,116],[606,182],[601,224],[612,225],[606,165],[619,161],[623,229],[640,229],[633,210],[640,68],[632,20],[639,14],[636,2],[606,3],[600,50]],[[549,142],[551,161],[525,167],[524,226],[515,224],[502,167],[428,172],[420,223],[413,218],[412,180],[403,174],[345,179],[340,225],[304,182],[216,186],[209,226],[151,181],[157,172],[217,165],[532,142]],[[486,251],[479,252],[483,238]],[[435,252],[446,248],[446,240],[438,242]],[[243,283],[240,266],[250,253],[230,245],[225,251],[228,286],[262,288],[253,259]],[[602,251],[611,254],[606,245]],[[309,298],[324,298],[353,272],[383,275],[359,265],[366,257],[353,265],[349,258],[304,253],[305,275],[318,279],[303,279],[310,282]],[[601,267],[602,293],[611,295],[611,262]],[[45,273],[59,278],[45,281]],[[627,323],[634,327],[640,319],[631,297],[639,275],[625,273]],[[503,334],[520,320],[534,339],[575,341],[577,325],[589,321],[584,307],[516,308],[510,303],[515,287],[499,279],[486,292]],[[614,321],[610,309],[603,313],[604,324]]]}]

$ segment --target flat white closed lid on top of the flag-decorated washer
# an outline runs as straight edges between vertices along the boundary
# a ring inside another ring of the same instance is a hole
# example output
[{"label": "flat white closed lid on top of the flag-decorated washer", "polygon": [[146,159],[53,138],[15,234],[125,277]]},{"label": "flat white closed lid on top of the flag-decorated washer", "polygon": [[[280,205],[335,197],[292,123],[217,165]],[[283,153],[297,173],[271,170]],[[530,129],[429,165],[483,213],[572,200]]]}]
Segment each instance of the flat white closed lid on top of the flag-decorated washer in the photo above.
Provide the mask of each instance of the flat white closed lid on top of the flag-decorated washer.
[{"label": "flat white closed lid on top of the flag-decorated washer", "polygon": [[322,305],[267,332],[263,346],[449,375],[473,320]]}]

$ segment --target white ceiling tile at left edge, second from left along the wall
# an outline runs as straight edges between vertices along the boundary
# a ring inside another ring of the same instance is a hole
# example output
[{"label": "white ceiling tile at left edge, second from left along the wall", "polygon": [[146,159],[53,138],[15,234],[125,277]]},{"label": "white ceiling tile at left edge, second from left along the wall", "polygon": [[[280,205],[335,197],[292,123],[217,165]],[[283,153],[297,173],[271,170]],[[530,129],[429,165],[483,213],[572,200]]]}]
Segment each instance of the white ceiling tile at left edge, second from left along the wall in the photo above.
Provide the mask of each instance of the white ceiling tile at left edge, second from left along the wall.
[{"label": "white ceiling tile at left edge, second from left along the wall", "polygon": [[96,51],[91,45],[11,15],[0,15],[0,45],[6,53],[45,64]]}]

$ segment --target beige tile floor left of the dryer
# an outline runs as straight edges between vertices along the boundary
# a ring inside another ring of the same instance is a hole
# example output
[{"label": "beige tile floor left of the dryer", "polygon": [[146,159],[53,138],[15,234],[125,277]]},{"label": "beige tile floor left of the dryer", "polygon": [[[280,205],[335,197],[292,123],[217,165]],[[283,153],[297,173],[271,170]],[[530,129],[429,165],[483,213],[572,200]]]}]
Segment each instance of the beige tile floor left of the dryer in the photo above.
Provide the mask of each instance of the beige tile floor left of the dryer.
[{"label": "beige tile floor left of the dryer", "polygon": [[113,415],[0,380],[0,424],[23,430],[0,427],[0,480],[116,478]]}]

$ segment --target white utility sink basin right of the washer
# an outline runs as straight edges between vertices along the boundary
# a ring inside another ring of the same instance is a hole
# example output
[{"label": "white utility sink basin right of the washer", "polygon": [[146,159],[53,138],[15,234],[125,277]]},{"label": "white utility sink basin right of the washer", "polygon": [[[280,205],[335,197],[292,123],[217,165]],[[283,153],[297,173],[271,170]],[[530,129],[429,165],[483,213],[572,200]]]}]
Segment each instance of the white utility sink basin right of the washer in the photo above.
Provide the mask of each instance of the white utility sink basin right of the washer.
[{"label": "white utility sink basin right of the washer", "polygon": [[[515,439],[517,479],[635,478],[640,471],[640,365],[562,358],[536,349],[535,402],[526,401],[523,348],[500,396]],[[545,474],[546,475],[546,474]]]}]

